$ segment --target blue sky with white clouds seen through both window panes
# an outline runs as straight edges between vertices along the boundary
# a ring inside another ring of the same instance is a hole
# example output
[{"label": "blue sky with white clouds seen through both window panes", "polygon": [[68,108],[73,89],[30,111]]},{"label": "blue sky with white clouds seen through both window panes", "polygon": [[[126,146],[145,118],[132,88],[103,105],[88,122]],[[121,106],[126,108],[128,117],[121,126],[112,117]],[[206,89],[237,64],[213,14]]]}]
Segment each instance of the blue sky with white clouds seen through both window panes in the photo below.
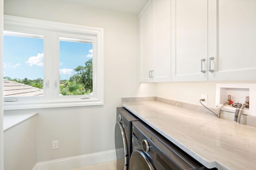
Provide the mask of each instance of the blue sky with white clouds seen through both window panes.
[{"label": "blue sky with white clouds seen through both window panes", "polygon": [[[4,76],[44,78],[43,39],[4,36]],[[60,41],[60,79],[76,74],[74,68],[92,58],[92,44]]]}]

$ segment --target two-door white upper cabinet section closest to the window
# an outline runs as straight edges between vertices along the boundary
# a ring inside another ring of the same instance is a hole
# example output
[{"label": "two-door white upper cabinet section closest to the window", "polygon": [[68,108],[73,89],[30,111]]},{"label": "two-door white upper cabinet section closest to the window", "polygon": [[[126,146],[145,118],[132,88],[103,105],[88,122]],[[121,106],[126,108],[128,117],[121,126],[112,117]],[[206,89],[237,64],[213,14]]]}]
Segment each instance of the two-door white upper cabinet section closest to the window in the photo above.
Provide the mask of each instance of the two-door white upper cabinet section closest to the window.
[{"label": "two-door white upper cabinet section closest to the window", "polygon": [[170,0],[153,0],[140,16],[140,82],[171,81],[170,13]]}]

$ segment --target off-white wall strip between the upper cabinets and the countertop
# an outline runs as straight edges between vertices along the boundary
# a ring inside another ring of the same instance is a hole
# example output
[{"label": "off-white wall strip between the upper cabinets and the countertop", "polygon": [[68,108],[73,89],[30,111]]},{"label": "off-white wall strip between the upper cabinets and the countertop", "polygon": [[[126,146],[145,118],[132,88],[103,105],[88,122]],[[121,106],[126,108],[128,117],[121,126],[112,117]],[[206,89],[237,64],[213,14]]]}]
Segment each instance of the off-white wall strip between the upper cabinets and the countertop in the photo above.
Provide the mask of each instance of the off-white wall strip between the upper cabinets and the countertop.
[{"label": "off-white wall strip between the upper cabinets and the countertop", "polygon": [[[208,107],[214,108],[217,83],[256,83],[256,81],[156,83],[156,96],[201,106],[199,102],[201,94],[208,94]],[[222,118],[233,121],[234,113],[222,111]],[[241,117],[241,124],[246,124],[246,117]]]}]

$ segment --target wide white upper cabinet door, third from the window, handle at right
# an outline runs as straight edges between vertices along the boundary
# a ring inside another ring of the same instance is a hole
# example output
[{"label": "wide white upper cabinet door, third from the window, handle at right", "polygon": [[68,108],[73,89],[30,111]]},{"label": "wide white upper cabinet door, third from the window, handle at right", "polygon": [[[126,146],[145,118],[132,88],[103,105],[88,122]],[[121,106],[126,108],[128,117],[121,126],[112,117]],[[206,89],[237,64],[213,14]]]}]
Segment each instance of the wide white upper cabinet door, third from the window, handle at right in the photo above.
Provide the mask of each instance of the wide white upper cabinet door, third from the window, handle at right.
[{"label": "wide white upper cabinet door, third from the window, handle at right", "polygon": [[207,81],[207,8],[207,0],[172,0],[173,82]]}]

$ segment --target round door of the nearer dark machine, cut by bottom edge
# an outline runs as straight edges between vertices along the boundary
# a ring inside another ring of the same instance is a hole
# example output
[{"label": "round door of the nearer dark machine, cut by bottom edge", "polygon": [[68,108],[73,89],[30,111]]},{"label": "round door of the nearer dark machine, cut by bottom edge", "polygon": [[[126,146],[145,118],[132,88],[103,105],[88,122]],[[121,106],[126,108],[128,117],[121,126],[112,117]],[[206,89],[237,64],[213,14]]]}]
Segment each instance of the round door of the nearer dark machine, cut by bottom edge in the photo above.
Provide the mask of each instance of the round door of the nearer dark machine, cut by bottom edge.
[{"label": "round door of the nearer dark machine, cut by bottom edge", "polygon": [[155,168],[144,152],[135,150],[131,154],[130,170],[155,170]]}]

